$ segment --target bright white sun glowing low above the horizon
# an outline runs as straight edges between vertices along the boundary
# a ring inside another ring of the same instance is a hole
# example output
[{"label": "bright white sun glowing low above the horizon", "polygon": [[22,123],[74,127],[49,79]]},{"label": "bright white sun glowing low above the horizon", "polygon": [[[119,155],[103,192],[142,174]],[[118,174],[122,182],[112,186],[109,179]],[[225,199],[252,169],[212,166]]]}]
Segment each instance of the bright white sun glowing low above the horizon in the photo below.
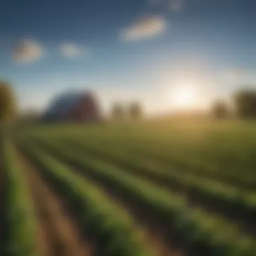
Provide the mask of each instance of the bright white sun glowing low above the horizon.
[{"label": "bright white sun glowing low above the horizon", "polygon": [[179,86],[172,92],[172,104],[177,108],[190,108],[195,101],[196,93],[192,86]]}]

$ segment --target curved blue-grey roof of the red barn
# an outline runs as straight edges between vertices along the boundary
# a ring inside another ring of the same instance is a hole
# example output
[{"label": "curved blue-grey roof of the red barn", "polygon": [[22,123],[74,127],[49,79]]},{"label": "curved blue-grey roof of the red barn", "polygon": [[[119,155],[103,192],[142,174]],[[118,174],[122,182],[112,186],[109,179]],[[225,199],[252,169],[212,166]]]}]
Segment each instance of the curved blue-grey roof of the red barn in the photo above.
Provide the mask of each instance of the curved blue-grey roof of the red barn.
[{"label": "curved blue-grey roof of the red barn", "polygon": [[57,96],[53,103],[46,110],[44,117],[64,115],[68,110],[73,108],[76,104],[84,98],[92,98],[91,92],[66,92]]}]

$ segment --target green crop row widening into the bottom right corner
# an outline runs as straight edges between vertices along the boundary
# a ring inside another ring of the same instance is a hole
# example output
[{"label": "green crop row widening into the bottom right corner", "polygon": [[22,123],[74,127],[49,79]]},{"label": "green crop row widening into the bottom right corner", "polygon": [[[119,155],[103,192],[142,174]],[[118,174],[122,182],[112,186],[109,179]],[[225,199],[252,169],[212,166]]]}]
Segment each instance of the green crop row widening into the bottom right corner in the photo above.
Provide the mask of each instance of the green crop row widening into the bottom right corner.
[{"label": "green crop row widening into the bottom right corner", "polygon": [[[255,241],[241,234],[236,226],[220,216],[205,213],[199,208],[188,207],[184,197],[169,193],[165,189],[140,179],[123,170],[95,160],[68,146],[51,141],[49,152],[76,168],[85,170],[115,187],[126,196],[132,197],[146,211],[165,222],[170,236],[179,241],[187,255],[255,255]],[[51,148],[51,150],[50,150]]]}]

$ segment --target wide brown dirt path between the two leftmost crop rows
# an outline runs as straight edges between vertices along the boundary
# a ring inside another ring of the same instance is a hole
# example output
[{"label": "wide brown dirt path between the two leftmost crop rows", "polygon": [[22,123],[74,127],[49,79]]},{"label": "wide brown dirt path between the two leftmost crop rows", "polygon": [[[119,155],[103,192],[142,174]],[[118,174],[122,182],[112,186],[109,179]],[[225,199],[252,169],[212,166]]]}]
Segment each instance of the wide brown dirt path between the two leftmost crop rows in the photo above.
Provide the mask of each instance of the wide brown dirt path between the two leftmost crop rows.
[{"label": "wide brown dirt path between the two leftmost crop rows", "polygon": [[38,247],[45,256],[89,256],[93,247],[79,235],[60,197],[43,181],[28,160],[20,158],[38,218]]}]

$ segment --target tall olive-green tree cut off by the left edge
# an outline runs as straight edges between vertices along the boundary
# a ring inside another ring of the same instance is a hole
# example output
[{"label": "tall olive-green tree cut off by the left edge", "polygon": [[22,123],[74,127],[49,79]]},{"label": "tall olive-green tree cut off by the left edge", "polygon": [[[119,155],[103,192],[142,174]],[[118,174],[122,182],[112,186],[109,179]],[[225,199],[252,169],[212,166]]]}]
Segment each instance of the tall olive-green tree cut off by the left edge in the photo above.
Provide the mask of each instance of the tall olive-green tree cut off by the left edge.
[{"label": "tall olive-green tree cut off by the left edge", "polygon": [[7,125],[13,121],[16,107],[13,88],[7,82],[0,81],[0,125]]}]

